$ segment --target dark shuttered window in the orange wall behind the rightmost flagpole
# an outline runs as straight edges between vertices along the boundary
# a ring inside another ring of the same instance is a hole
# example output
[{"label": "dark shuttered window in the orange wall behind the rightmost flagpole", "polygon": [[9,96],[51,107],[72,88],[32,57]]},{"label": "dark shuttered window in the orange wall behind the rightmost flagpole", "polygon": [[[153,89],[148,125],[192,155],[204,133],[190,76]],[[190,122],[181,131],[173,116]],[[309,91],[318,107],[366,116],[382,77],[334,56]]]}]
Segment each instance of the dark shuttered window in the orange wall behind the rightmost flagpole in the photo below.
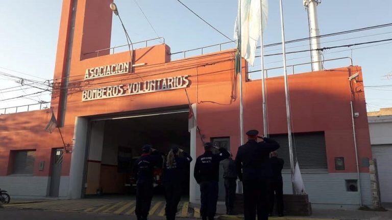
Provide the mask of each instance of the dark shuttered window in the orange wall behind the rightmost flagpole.
[{"label": "dark shuttered window in the orange wall behind the rightmost flagpole", "polygon": [[[290,169],[287,134],[271,134],[280,144],[278,157],[284,160],[283,169]],[[298,159],[301,169],[327,169],[327,153],[324,132],[293,133],[294,164]]]}]

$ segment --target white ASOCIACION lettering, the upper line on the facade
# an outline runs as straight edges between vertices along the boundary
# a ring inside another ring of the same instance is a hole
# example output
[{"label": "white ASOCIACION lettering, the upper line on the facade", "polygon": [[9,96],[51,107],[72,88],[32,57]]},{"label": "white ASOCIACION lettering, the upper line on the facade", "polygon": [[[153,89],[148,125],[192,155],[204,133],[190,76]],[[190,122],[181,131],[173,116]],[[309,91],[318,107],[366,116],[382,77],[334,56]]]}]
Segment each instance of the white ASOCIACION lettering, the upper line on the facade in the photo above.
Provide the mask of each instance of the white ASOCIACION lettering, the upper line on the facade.
[{"label": "white ASOCIACION lettering, the upper line on the facade", "polygon": [[129,73],[128,62],[86,69],[84,80],[123,73]]}]

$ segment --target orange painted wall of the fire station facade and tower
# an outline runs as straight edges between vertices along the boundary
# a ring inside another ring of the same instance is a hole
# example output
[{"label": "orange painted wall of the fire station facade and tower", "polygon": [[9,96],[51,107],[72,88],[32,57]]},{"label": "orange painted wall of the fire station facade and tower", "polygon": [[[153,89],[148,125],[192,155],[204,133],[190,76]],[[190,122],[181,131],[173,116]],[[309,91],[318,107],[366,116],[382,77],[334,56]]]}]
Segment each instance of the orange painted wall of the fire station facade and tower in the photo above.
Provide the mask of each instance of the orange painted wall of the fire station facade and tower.
[{"label": "orange painted wall of the fire station facade and tower", "polygon": [[[58,109],[59,88],[63,80],[67,42],[69,41],[67,33],[72,8],[70,2],[69,0],[63,2],[60,22],[54,73],[55,88],[52,95],[52,108],[55,112]],[[126,113],[188,103],[183,89],[84,102],[82,102],[82,90],[136,82],[141,80],[140,77],[143,80],[150,80],[189,75],[190,86],[187,91],[190,101],[198,103],[198,124],[202,134],[205,135],[205,140],[209,141],[211,137],[230,136],[232,151],[235,154],[236,147],[239,145],[239,99],[238,88],[233,91],[233,84],[238,83],[234,81],[234,50],[170,62],[170,48],[165,44],[155,45],[134,52],[136,64],[146,63],[145,66],[135,67],[135,73],[92,80],[83,79],[85,70],[88,68],[130,61],[128,52],[111,55],[100,53],[99,57],[88,59],[83,57],[87,49],[102,49],[107,46],[108,41],[110,42],[110,36],[106,35],[107,33],[94,43],[87,43],[94,39],[83,39],[83,36],[93,36],[92,33],[96,33],[91,24],[94,20],[86,19],[85,15],[96,8],[99,11],[103,10],[102,13],[106,13],[105,16],[109,19],[110,16],[107,14],[109,12],[102,9],[102,7],[108,7],[108,2],[110,1],[100,0],[97,4],[86,4],[86,0],[78,1],[65,123],[61,128],[65,143],[72,143],[75,117]],[[243,72],[245,71],[246,66],[243,66]],[[350,85],[347,78],[356,72],[360,73],[360,81]],[[293,131],[325,131],[329,172],[356,172],[351,127],[351,99],[354,101],[354,111],[359,112],[359,117],[355,119],[359,158],[372,157],[361,77],[361,68],[357,66],[289,76]],[[261,81],[246,81],[245,76],[242,80],[244,129],[256,128],[262,132]],[[283,78],[268,78],[266,84],[270,133],[286,133]],[[235,100],[234,96],[236,96]],[[10,150],[18,149],[37,149],[34,175],[50,175],[48,164],[50,164],[51,149],[62,145],[58,131],[49,134],[43,130],[50,116],[51,112],[47,110],[0,116],[1,176],[9,174]],[[202,152],[202,144],[198,142],[197,155]],[[62,167],[64,176],[69,175],[70,155],[64,156]],[[345,157],[345,171],[334,170],[334,157],[336,156]],[[46,164],[44,171],[38,171],[38,164],[41,160],[44,160]],[[361,168],[361,172],[368,172],[368,169]]]}]

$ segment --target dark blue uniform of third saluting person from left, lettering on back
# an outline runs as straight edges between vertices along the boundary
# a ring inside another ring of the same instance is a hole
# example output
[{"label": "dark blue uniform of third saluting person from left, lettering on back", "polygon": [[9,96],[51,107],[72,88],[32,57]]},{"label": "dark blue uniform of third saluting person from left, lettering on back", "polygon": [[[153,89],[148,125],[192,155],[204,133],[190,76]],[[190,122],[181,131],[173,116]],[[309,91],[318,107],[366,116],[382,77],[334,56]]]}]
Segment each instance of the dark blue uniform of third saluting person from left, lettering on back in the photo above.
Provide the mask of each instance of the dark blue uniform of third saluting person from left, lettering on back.
[{"label": "dark blue uniform of third saluting person from left, lettering on back", "polygon": [[228,158],[230,153],[219,148],[219,154],[206,151],[196,160],[193,176],[200,184],[201,207],[200,214],[203,220],[213,219],[218,200],[219,162]]}]

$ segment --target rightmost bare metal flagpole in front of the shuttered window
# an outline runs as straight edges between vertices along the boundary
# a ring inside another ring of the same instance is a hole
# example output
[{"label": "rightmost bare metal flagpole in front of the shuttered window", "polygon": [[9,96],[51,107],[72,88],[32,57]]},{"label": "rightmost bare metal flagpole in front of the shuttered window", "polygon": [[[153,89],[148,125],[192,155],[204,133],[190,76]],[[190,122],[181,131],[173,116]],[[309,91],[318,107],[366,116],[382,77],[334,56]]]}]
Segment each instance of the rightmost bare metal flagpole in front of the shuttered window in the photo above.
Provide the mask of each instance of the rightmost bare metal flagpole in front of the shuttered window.
[{"label": "rightmost bare metal flagpole in front of the shuttered window", "polygon": [[[290,169],[291,169],[291,185],[292,178],[294,175],[294,157],[292,155],[292,139],[291,139],[291,117],[290,117],[290,99],[288,94],[288,82],[287,82],[287,69],[286,69],[286,44],[284,37],[284,22],[283,22],[283,3],[280,3],[280,24],[282,32],[282,50],[283,50],[283,69],[284,69],[284,91],[286,94],[286,115],[287,115],[287,133],[288,133],[288,152],[290,156]],[[295,194],[294,186],[292,185],[292,193]]]}]

